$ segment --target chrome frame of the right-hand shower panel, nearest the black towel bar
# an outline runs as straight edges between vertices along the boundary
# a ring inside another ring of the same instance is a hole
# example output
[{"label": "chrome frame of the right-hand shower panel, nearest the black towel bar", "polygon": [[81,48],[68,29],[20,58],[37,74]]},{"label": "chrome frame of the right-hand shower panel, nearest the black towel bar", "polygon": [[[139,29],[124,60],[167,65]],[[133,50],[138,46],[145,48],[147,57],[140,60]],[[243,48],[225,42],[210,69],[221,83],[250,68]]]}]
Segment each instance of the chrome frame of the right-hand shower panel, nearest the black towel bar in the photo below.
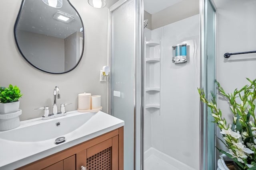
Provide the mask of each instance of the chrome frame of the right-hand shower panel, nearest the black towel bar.
[{"label": "chrome frame of the right-hand shower panel, nearest the black towel bar", "polygon": [[[206,35],[207,35],[207,29],[206,29],[206,24],[207,24],[207,18],[206,18],[206,12],[207,10],[205,9],[206,7],[206,1],[210,2],[210,5],[212,6],[215,14],[214,14],[214,41],[215,41],[215,79],[217,79],[217,8],[216,5],[214,4],[213,0],[200,0],[200,89],[206,87],[206,74],[204,70],[204,63],[205,63],[205,55],[207,54],[207,46],[206,46]],[[206,92],[207,93],[207,92]],[[204,115],[204,113],[206,113]],[[200,101],[200,159],[199,159],[199,168],[200,170],[204,170],[204,167],[206,167],[207,170],[207,162],[208,162],[208,111],[207,111],[207,106]],[[216,130],[214,134],[216,133]],[[215,144],[216,144],[216,137],[215,137]],[[204,144],[206,147],[204,147]],[[214,158],[216,159],[216,151],[215,151],[215,156]],[[215,163],[216,165],[216,163]],[[216,167],[215,167],[216,169]]]}]

